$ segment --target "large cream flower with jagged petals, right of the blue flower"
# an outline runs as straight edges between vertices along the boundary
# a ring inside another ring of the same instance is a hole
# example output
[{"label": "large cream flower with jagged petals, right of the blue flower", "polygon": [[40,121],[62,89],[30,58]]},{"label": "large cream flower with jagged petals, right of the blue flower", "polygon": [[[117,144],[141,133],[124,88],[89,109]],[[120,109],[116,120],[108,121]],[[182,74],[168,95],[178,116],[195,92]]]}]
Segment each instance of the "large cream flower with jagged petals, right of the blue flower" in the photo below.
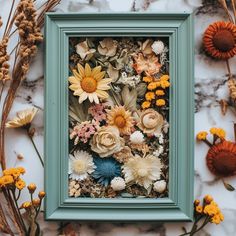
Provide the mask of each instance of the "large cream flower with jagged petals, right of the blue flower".
[{"label": "large cream flower with jagged petals, right of the blue flower", "polygon": [[153,181],[160,178],[162,166],[160,159],[153,155],[135,156],[124,163],[122,171],[126,183],[135,182],[148,189]]}]

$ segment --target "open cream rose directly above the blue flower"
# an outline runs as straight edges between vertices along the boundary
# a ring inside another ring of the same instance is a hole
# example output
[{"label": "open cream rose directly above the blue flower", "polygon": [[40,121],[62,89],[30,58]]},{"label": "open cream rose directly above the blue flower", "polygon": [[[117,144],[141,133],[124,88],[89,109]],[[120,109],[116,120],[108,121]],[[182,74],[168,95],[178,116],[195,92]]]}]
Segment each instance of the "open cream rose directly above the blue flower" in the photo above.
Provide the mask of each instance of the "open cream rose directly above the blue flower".
[{"label": "open cream rose directly above the blue flower", "polygon": [[90,142],[91,149],[100,157],[107,157],[119,152],[124,144],[125,141],[120,137],[120,132],[115,126],[101,127]]}]

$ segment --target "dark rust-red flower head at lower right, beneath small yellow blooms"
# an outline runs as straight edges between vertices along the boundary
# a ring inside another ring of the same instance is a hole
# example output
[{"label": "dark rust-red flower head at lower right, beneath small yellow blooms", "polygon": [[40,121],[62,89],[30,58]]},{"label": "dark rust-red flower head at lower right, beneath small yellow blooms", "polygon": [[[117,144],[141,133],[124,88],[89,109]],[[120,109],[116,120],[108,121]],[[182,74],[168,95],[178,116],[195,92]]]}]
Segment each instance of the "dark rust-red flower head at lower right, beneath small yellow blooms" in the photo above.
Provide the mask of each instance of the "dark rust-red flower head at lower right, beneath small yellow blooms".
[{"label": "dark rust-red flower head at lower right, beneath small yellow blooms", "polygon": [[223,141],[213,145],[206,156],[209,170],[216,176],[233,176],[236,174],[236,144]]}]

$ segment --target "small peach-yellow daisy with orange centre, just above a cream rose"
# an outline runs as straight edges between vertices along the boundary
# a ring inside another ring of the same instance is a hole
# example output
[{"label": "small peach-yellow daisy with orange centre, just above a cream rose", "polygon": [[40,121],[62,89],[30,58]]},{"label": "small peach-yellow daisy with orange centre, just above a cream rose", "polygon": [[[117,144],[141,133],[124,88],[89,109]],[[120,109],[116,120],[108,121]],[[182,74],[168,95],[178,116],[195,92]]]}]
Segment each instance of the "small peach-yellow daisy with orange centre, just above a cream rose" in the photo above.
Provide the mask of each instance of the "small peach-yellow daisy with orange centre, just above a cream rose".
[{"label": "small peach-yellow daisy with orange centre, just above a cream rose", "polygon": [[133,127],[133,118],[130,111],[126,111],[123,106],[115,106],[107,111],[109,125],[116,126],[121,134],[129,134]]}]

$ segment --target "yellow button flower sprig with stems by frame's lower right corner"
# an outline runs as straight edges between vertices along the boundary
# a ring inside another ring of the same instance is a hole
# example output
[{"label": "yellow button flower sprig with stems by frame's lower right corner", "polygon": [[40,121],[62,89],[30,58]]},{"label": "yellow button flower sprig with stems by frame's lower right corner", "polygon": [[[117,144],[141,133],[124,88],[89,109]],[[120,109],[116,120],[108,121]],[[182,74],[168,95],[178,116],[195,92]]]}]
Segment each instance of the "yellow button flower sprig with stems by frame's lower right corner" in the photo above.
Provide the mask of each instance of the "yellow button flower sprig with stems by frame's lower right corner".
[{"label": "yellow button flower sprig with stems by frame's lower right corner", "polygon": [[[203,204],[200,204],[200,200],[194,201],[194,223],[189,232],[183,227],[184,233],[179,236],[184,235],[194,235],[203,229],[208,223],[220,224],[224,220],[224,215],[222,214],[219,206],[214,201],[212,196],[206,195],[203,199]],[[199,226],[200,224],[200,226]]]}]

